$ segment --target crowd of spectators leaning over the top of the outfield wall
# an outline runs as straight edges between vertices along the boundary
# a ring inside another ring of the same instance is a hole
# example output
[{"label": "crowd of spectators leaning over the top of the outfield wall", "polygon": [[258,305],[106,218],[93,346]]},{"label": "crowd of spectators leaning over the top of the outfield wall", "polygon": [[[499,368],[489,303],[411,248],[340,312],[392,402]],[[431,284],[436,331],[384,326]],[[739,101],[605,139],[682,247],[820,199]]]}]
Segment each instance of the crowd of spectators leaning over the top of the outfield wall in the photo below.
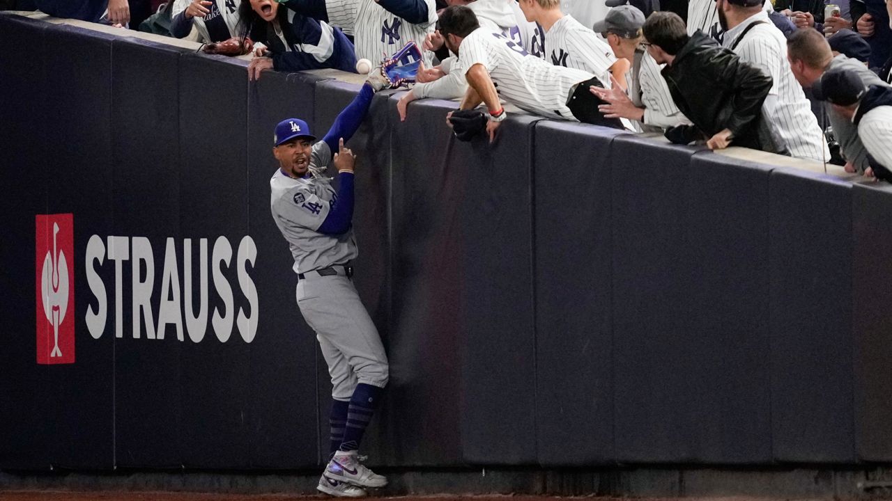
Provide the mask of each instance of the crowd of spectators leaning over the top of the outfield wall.
[{"label": "crowd of spectators leaning over the top of the outfield wall", "polygon": [[263,70],[355,71],[359,59],[376,64],[415,41],[424,63],[399,103],[403,120],[409,103],[425,97],[461,99],[461,108],[484,103],[494,139],[501,103],[511,103],[552,119],[663,132],[680,144],[743,145],[888,176],[892,0],[662,2],[0,0],[0,7],[205,43],[250,37],[251,78]]}]

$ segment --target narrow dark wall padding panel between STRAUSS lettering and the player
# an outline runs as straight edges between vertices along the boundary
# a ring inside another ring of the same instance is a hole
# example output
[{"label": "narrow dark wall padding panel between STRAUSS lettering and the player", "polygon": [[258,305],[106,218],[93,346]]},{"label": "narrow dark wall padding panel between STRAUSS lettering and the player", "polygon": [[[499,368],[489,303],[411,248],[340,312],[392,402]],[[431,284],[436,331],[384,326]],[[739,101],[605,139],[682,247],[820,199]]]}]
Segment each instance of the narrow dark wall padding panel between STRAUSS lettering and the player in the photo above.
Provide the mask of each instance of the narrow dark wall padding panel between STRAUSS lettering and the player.
[{"label": "narrow dark wall padding panel between STRAUSS lettering and the player", "polygon": [[273,130],[288,118],[313,127],[315,79],[309,77],[265,72],[248,87],[248,227],[257,245],[252,276],[264,309],[250,349],[247,432],[255,468],[318,464],[317,342],[297,308],[294,260],[269,209],[269,179],[278,168]]}]

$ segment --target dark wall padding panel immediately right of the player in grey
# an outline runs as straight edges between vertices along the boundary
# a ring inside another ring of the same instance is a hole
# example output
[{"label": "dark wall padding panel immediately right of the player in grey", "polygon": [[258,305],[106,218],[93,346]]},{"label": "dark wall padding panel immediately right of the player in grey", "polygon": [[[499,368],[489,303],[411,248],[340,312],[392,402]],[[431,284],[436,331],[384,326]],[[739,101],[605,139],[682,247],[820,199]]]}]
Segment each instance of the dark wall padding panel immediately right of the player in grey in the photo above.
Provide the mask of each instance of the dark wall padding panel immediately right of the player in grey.
[{"label": "dark wall padding panel immediately right of the player in grey", "polygon": [[[458,144],[442,123],[454,103],[392,105],[392,324],[388,333],[393,459],[407,466],[464,464],[462,346],[467,168],[452,162]],[[430,154],[437,152],[437,154]],[[503,423],[499,423],[501,425]]]}]

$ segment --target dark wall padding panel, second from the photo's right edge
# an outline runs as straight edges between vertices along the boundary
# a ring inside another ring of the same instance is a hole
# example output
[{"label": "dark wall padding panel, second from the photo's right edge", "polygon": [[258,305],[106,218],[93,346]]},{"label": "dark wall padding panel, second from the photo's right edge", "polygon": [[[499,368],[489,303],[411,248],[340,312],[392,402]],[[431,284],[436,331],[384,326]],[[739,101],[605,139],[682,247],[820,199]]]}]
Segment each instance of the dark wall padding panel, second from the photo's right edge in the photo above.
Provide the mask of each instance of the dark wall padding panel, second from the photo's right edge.
[{"label": "dark wall padding panel, second from the photo's right edge", "polygon": [[774,457],[851,463],[852,185],[777,168],[769,189]]}]

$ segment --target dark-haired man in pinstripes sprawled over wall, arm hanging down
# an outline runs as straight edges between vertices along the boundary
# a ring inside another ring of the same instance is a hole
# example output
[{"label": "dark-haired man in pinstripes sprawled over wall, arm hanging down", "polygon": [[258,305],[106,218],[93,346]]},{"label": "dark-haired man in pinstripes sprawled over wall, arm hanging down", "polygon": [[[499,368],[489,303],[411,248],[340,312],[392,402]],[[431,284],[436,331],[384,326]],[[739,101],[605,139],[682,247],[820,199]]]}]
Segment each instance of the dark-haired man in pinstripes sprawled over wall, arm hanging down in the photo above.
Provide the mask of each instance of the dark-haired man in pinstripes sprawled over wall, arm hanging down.
[{"label": "dark-haired man in pinstripes sprawled over wall, arm hanging down", "polygon": [[[489,109],[486,130],[490,141],[506,118],[499,98],[517,107],[549,118],[581,121],[623,128],[616,119],[604,119],[598,105],[604,103],[589,92],[601,86],[591,73],[555,66],[524,51],[507,37],[480,28],[474,12],[451,6],[440,16],[440,31],[446,46],[458,53],[468,89],[461,110],[480,103]],[[498,88],[497,88],[498,86]],[[451,116],[451,114],[450,114]]]}]

